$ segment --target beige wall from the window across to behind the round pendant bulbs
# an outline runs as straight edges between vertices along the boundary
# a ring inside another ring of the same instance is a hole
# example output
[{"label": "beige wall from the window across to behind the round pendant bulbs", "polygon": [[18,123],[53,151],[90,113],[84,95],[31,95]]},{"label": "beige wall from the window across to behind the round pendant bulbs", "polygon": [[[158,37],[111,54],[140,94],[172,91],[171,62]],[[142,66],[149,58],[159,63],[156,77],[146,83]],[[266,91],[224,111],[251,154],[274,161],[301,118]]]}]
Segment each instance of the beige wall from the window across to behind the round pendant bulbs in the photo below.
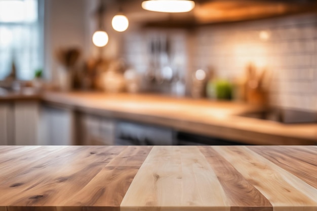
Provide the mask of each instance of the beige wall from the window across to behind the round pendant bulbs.
[{"label": "beige wall from the window across to behind the round pendant bulbs", "polygon": [[[54,51],[58,48],[78,47],[82,59],[97,58],[102,52],[105,58],[117,58],[120,54],[121,34],[111,26],[116,11],[107,8],[104,26],[109,35],[109,43],[102,49],[92,43],[92,35],[97,30],[95,11],[98,0],[45,0],[44,45],[46,78],[57,81]],[[100,51],[101,50],[101,51]]]}]

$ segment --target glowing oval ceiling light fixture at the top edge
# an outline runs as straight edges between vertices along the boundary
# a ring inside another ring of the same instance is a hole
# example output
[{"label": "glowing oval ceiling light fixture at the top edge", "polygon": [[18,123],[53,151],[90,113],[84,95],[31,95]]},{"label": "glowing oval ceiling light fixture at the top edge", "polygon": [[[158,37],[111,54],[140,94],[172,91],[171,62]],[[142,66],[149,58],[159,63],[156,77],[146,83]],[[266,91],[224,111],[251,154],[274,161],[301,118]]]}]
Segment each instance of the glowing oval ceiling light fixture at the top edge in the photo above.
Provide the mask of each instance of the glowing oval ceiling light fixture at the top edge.
[{"label": "glowing oval ceiling light fixture at the top edge", "polygon": [[190,0],[149,0],[142,2],[144,10],[164,13],[184,13],[195,7],[194,1]]}]

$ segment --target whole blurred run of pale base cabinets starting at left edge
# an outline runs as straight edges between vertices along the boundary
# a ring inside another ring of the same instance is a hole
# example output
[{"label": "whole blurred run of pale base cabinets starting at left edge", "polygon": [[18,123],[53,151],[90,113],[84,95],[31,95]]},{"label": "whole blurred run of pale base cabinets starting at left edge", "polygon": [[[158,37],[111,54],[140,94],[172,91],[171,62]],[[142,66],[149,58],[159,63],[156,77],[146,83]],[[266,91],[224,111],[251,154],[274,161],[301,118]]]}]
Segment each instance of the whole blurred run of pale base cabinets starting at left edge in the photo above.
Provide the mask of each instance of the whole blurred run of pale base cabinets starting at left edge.
[{"label": "whole blurred run of pale base cabinets starting at left edge", "polygon": [[0,103],[0,145],[114,145],[114,121],[54,104]]}]

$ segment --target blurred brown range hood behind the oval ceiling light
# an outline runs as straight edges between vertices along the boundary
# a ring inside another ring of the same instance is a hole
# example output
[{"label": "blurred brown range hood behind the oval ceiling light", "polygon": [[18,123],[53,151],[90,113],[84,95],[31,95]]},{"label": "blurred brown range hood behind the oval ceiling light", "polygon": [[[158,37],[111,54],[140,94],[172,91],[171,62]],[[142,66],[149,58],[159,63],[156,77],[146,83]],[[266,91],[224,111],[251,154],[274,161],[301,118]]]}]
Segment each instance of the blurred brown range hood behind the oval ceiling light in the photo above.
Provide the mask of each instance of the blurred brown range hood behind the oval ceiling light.
[{"label": "blurred brown range hood behind the oval ceiling light", "polygon": [[317,11],[316,0],[195,0],[188,13],[145,11],[141,0],[123,1],[129,19],[142,26],[194,27]]}]

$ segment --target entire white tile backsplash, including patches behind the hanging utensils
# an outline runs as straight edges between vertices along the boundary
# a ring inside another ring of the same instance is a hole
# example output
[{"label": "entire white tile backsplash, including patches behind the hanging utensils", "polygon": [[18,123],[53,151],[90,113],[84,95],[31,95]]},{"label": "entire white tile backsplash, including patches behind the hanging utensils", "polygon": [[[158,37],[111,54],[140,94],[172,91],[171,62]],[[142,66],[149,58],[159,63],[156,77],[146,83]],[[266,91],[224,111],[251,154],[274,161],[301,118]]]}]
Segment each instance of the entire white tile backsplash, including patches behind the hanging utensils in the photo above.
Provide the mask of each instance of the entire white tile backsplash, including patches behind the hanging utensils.
[{"label": "entire white tile backsplash, including patches behind the hanging utensils", "polygon": [[[266,39],[263,36],[261,39],[262,31],[267,34]],[[141,71],[147,67],[152,35],[157,33],[134,33],[126,39],[126,58]],[[233,78],[245,73],[252,62],[272,72],[269,86],[272,105],[317,111],[317,15],[204,26],[190,36],[193,42],[190,52],[186,33],[170,36],[172,52],[183,58],[187,74],[212,67],[218,76]]]}]

